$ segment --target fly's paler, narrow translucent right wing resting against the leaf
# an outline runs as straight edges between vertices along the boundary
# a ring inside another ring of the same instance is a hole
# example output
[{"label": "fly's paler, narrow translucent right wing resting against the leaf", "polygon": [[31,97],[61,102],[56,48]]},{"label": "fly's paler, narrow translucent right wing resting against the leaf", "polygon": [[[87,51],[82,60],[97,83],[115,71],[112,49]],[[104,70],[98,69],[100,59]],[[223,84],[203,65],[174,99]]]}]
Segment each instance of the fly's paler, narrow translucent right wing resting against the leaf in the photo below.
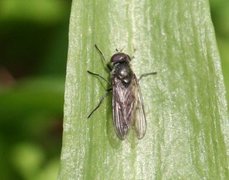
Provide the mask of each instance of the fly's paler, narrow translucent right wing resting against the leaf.
[{"label": "fly's paler, narrow translucent right wing resting against the leaf", "polygon": [[134,76],[133,82],[136,84],[135,86],[136,105],[135,105],[135,112],[134,112],[134,127],[138,139],[142,139],[145,136],[146,126],[147,126],[145,110],[144,110],[141,90],[138,85],[138,80],[136,76]]}]

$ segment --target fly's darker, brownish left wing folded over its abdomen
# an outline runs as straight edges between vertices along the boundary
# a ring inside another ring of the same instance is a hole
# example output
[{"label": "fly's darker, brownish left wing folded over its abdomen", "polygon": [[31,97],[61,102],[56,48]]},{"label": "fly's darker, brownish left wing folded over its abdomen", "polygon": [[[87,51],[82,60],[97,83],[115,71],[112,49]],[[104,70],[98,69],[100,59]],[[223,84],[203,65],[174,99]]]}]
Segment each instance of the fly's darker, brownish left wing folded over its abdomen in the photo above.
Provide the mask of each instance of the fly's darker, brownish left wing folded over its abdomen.
[{"label": "fly's darker, brownish left wing folded over its abdomen", "polygon": [[112,107],[113,107],[113,122],[116,134],[120,139],[125,139],[129,128],[132,125],[135,95],[133,82],[125,86],[121,80],[116,77],[112,78]]}]

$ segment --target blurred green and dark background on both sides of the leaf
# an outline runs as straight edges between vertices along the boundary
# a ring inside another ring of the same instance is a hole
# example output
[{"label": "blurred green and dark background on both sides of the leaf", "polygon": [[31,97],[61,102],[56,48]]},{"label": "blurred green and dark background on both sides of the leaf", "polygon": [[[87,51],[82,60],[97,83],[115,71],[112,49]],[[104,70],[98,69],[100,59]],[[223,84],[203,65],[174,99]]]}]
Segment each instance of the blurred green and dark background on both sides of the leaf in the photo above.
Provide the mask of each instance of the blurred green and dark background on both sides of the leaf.
[{"label": "blurred green and dark background on both sides of the leaf", "polygon": [[[210,3],[228,91],[229,1]],[[70,8],[71,0],[0,1],[2,180],[56,179]]]}]

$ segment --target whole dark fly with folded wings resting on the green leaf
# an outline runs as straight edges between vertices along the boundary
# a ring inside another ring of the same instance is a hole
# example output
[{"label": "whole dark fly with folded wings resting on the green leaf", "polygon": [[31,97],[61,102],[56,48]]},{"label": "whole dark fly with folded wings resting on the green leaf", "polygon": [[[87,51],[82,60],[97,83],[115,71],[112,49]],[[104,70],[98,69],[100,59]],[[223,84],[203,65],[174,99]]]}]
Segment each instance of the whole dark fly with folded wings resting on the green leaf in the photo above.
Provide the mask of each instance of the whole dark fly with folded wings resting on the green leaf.
[{"label": "whole dark fly with folded wings resting on the green leaf", "polygon": [[[102,51],[95,45],[105,61]],[[142,139],[146,133],[146,117],[143,105],[143,99],[139,87],[139,80],[156,72],[142,74],[137,79],[130,67],[131,58],[128,54],[117,52],[107,64],[111,75],[111,83],[97,73],[87,71],[111,85],[106,93],[101,97],[98,105],[91,111],[88,118],[99,108],[104,98],[112,91],[112,118],[117,136],[124,140],[131,127],[134,128],[138,139]]]}]

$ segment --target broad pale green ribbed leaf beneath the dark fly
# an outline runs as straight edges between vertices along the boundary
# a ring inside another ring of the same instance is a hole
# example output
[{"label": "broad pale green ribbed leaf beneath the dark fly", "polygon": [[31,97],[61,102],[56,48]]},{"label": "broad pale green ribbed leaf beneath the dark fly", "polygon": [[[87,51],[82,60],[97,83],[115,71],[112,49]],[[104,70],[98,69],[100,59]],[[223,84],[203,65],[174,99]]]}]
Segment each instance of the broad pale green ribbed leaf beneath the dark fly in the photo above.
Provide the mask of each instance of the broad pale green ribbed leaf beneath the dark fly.
[{"label": "broad pale green ribbed leaf beneath the dark fly", "polygon": [[[108,87],[115,49],[135,58],[147,132],[121,141]],[[228,179],[225,87],[207,0],[72,2],[59,179]]]}]

